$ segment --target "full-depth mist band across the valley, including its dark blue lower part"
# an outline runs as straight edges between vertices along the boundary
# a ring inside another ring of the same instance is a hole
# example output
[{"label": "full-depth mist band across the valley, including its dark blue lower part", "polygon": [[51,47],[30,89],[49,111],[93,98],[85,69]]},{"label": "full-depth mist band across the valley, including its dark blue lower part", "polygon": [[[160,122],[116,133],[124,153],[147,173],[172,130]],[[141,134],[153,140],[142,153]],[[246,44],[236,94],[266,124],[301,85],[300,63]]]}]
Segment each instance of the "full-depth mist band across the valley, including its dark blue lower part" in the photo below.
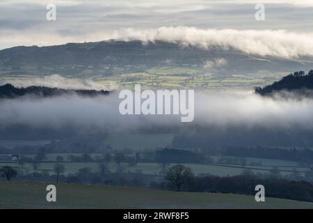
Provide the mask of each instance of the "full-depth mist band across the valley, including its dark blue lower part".
[{"label": "full-depth mist band across the valley, including its dark blue lower part", "polygon": [[[175,133],[214,144],[259,144],[266,140],[313,145],[313,100],[264,98],[250,91],[195,91],[195,118],[121,115],[118,92],[95,98],[63,95],[0,101],[1,139],[58,139],[77,135]],[[230,141],[230,139],[232,139]],[[239,140],[242,139],[242,140]],[[239,141],[238,141],[239,140]]]}]

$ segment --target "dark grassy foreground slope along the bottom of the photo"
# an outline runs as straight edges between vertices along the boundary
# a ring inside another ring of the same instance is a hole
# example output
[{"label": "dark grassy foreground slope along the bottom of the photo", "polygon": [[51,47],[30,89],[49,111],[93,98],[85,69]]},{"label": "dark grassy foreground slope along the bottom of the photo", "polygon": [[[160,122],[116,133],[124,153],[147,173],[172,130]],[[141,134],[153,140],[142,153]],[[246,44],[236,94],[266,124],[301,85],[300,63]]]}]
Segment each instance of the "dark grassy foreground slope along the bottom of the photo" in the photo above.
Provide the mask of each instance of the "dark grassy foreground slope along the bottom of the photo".
[{"label": "dark grassy foreground slope along the bottom of the photo", "polygon": [[171,192],[130,187],[57,185],[57,202],[46,201],[44,183],[0,181],[0,208],[313,208],[313,203],[252,196]]}]

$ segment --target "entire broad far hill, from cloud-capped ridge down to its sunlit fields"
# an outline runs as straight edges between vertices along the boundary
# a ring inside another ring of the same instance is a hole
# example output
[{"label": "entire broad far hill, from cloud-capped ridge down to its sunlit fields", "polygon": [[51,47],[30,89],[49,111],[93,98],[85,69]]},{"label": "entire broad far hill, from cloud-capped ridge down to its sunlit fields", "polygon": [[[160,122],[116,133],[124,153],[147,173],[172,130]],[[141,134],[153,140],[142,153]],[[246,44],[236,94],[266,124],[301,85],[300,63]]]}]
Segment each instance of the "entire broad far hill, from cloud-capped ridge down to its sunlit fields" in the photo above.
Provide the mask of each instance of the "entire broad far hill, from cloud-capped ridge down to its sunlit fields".
[{"label": "entire broad far hill, from cloud-capped ridge down to its sunlit fields", "polygon": [[[282,72],[307,69],[313,58],[282,59],[250,55],[232,47],[195,47],[184,43],[107,40],[48,47],[18,46],[0,50],[0,78],[63,77],[97,81],[156,83],[169,75],[179,86],[265,84]],[[107,80],[106,78],[109,78]],[[188,84],[189,83],[189,84]],[[218,82],[219,83],[219,82]]]}]

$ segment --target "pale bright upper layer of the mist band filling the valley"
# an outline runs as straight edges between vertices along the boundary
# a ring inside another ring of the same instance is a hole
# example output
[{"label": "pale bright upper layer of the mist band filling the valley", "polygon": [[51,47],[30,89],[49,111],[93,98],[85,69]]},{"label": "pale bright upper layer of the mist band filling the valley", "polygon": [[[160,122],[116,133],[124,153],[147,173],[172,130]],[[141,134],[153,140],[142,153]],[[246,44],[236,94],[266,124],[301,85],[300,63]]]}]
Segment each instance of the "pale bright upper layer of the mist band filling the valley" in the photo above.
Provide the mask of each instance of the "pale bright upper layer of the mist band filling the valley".
[{"label": "pale bright upper layer of the mist band filling the valley", "polygon": [[66,95],[54,98],[0,100],[1,129],[13,125],[56,128],[65,125],[88,132],[136,131],[151,128],[241,126],[291,130],[313,130],[313,100],[273,100],[251,92],[195,92],[195,118],[181,123],[179,115],[125,115],[118,112],[118,93],[95,98]]}]

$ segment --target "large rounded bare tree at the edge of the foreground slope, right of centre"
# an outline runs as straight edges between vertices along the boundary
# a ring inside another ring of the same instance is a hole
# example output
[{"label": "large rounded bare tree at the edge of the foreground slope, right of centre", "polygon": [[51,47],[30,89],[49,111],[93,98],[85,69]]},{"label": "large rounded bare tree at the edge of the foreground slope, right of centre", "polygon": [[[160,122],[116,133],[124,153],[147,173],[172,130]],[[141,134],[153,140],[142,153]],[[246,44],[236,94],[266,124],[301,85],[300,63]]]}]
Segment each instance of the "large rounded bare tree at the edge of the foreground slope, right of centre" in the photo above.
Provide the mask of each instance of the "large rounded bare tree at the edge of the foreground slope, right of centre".
[{"label": "large rounded bare tree at the edge of the foreground slope, right of centre", "polygon": [[180,191],[182,185],[190,182],[193,178],[193,172],[189,167],[185,167],[182,164],[177,164],[168,169],[166,173],[166,180],[176,187],[177,191]]}]

